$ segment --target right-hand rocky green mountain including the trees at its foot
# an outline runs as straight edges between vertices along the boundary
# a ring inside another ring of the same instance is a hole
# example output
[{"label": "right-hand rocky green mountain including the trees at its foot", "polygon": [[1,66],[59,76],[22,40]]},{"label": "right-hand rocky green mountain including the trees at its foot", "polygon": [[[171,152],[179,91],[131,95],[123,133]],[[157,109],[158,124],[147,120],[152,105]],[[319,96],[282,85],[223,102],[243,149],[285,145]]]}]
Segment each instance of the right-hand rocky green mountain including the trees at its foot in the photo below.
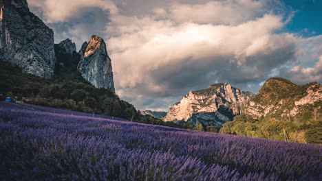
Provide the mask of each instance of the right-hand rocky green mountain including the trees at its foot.
[{"label": "right-hand rocky green mountain including the trees at its foot", "polygon": [[322,86],[272,77],[222,133],[322,144]]}]

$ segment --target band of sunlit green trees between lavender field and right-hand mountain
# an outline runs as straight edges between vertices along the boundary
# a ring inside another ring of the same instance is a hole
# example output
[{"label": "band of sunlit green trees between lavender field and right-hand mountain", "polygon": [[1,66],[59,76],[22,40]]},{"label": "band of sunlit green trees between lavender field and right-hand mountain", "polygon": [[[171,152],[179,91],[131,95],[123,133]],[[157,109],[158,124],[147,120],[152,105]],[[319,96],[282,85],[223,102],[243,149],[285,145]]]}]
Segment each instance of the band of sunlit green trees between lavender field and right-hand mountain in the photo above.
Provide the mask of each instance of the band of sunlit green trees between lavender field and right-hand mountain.
[{"label": "band of sunlit green trees between lavender field and right-hand mountain", "polygon": [[221,133],[236,134],[279,141],[322,144],[322,121],[304,122],[277,120],[271,117],[253,119],[248,114],[235,117],[224,124]]}]

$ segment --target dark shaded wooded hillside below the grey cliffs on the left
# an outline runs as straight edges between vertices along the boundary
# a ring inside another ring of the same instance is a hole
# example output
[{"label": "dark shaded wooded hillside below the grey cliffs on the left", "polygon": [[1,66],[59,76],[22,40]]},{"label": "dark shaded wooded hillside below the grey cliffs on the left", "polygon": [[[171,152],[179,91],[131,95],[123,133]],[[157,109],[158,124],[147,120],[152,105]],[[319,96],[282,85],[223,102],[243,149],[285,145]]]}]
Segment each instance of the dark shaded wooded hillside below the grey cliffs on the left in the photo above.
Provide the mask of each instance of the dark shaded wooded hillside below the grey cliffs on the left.
[{"label": "dark shaded wooded hillside below the grey cliffs on the left", "polygon": [[[110,90],[95,88],[85,81],[76,71],[78,53],[67,55],[56,46],[55,51],[55,75],[50,79],[22,73],[19,67],[0,60],[1,101],[10,96],[28,104],[94,112],[142,123],[164,123],[160,119],[140,114],[132,104],[123,101]],[[59,65],[61,62],[65,67]]]}]

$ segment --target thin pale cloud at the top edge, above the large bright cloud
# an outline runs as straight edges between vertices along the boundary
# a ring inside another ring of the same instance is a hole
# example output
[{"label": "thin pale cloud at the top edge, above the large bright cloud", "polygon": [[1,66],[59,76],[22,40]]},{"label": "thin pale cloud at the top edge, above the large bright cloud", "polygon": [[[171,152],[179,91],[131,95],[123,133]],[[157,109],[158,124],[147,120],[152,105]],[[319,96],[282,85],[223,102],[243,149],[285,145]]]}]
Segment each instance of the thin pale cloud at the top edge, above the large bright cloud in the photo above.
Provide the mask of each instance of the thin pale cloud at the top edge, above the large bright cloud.
[{"label": "thin pale cloud at the top edge, above the large bright cloud", "polygon": [[[237,25],[263,12],[266,1],[209,1],[202,4],[175,3],[164,14],[177,22]],[[164,15],[162,14],[162,15]]]}]

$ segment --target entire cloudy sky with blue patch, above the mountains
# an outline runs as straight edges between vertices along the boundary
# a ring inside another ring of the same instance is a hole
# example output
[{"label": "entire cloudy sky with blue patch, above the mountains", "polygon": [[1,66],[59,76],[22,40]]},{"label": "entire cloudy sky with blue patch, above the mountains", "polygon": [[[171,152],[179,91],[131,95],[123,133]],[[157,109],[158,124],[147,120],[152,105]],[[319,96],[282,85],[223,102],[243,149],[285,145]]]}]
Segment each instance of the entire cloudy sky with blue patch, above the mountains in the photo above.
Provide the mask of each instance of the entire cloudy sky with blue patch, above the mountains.
[{"label": "entire cloudy sky with blue patch, above the mountains", "polygon": [[258,93],[269,77],[322,82],[320,0],[28,0],[80,49],[105,39],[116,93],[162,110],[215,83]]}]

